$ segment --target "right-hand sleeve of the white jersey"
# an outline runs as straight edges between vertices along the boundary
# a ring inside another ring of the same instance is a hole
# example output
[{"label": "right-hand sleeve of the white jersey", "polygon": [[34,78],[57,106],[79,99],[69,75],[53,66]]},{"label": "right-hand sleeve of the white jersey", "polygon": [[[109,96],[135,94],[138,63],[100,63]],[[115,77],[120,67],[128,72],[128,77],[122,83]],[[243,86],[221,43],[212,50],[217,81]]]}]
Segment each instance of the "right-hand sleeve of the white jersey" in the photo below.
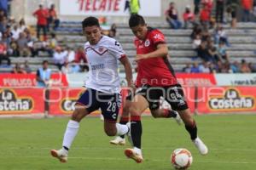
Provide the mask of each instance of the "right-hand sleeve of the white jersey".
[{"label": "right-hand sleeve of the white jersey", "polygon": [[113,40],[108,44],[108,50],[116,59],[121,59],[126,56],[121,44],[116,40]]}]

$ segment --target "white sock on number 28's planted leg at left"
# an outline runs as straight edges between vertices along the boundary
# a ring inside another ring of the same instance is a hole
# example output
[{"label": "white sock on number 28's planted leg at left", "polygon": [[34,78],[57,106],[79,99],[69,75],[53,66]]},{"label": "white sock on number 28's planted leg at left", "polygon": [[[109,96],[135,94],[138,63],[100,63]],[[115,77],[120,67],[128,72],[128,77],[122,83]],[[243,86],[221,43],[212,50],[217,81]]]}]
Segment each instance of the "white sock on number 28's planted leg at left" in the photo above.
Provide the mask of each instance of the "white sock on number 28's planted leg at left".
[{"label": "white sock on number 28's planted leg at left", "polygon": [[76,137],[78,132],[79,132],[79,122],[70,120],[67,123],[67,129],[64,134],[62,146],[65,146],[69,149],[71,144],[73,143],[73,139]]}]

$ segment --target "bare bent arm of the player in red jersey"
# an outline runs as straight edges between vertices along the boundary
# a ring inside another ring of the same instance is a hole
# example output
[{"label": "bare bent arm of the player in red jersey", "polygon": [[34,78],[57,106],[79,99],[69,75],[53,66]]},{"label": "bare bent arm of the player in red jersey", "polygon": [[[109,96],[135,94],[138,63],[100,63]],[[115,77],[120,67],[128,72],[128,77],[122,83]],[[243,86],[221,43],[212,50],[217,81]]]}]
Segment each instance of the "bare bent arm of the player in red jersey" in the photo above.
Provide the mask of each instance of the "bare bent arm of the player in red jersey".
[{"label": "bare bent arm of the player in red jersey", "polygon": [[149,58],[154,58],[154,57],[166,57],[168,54],[168,47],[166,43],[159,43],[156,46],[156,50],[154,50],[151,53],[148,54],[137,54],[135,59],[140,60],[140,59],[149,59]]}]

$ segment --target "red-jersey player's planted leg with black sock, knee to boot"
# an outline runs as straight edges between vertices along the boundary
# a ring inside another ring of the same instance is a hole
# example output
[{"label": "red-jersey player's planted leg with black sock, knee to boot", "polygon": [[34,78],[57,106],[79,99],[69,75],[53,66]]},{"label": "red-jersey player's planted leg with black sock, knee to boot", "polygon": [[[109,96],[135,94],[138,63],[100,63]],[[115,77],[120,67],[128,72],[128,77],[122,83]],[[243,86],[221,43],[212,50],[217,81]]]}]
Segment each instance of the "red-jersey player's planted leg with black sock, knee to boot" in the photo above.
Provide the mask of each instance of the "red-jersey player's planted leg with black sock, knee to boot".
[{"label": "red-jersey player's planted leg with black sock, knee to boot", "polygon": [[137,94],[131,102],[131,143],[132,149],[125,150],[125,156],[140,163],[143,161],[143,154],[141,150],[141,139],[143,127],[141,122],[141,114],[148,108],[148,101],[142,95]]}]

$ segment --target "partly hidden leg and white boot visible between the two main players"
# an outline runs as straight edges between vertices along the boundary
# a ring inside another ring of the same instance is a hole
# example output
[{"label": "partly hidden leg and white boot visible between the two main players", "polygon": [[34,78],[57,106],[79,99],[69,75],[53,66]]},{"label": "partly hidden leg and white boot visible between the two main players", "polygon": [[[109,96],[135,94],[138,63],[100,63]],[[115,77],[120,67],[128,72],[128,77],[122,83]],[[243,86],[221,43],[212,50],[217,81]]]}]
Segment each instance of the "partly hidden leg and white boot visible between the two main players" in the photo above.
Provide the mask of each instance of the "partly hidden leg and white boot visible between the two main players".
[{"label": "partly hidden leg and white boot visible between the two main players", "polygon": [[[129,108],[131,106],[131,99],[126,98],[124,101],[123,112],[119,118],[119,123],[126,125],[129,122]],[[125,135],[117,136],[110,141],[110,144],[125,144]]]}]

